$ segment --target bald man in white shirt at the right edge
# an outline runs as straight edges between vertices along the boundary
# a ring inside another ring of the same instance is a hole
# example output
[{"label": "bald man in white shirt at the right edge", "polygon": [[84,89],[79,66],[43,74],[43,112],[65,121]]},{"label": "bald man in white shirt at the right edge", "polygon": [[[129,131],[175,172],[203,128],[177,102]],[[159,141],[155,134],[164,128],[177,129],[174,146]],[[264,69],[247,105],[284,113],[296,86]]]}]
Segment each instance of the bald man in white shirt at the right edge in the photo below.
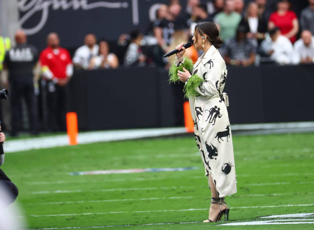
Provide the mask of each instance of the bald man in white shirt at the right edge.
[{"label": "bald man in white shirt at the right edge", "polygon": [[301,38],[295,42],[294,48],[299,63],[310,64],[314,62],[314,36],[311,31],[304,30]]}]

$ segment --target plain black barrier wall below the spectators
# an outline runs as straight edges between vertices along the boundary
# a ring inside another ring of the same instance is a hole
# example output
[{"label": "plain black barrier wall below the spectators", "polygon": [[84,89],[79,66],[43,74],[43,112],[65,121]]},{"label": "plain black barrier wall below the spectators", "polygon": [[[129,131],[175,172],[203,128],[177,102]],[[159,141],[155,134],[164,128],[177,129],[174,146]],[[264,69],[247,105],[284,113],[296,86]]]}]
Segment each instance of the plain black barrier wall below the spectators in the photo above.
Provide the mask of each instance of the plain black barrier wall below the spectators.
[{"label": "plain black barrier wall below the spectators", "polygon": [[[228,67],[231,124],[314,120],[314,65]],[[80,130],[183,125],[182,85],[164,69],[119,68],[76,72],[70,108]]]}]

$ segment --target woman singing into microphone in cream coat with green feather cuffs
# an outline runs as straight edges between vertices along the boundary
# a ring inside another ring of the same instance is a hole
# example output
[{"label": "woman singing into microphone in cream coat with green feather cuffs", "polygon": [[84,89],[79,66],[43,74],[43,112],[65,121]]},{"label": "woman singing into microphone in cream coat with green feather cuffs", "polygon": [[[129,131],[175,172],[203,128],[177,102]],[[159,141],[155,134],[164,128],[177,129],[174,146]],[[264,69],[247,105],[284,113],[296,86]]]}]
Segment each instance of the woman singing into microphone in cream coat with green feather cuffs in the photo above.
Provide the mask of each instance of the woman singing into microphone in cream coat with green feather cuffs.
[{"label": "woman singing into microphone in cream coat with green feather cuffs", "polygon": [[211,190],[209,217],[203,222],[217,222],[223,214],[228,220],[229,205],[225,203],[225,196],[237,192],[228,94],[222,93],[227,68],[217,50],[223,43],[218,36],[214,23],[197,24],[192,40],[196,49],[204,51],[203,55],[193,66],[191,59],[183,57],[185,48],[181,43],[176,46],[180,52],[169,70],[170,82],[185,82],[184,93],[190,102],[195,140]]}]

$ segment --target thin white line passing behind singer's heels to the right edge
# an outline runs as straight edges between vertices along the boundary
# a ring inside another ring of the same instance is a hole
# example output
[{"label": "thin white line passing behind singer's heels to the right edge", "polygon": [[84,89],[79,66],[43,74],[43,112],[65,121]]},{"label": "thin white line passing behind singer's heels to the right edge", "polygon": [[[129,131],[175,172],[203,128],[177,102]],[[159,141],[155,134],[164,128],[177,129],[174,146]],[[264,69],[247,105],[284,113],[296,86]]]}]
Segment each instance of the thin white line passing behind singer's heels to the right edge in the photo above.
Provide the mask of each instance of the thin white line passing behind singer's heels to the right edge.
[{"label": "thin white line passing behind singer's heels to the right edge", "polygon": [[[300,205],[272,205],[272,206],[250,206],[250,207],[230,207],[230,209],[246,209],[246,208],[275,208],[275,207],[294,207],[294,206],[314,206],[314,204]],[[149,211],[111,211],[111,212],[87,212],[87,213],[69,213],[69,214],[51,214],[51,215],[30,215],[31,217],[60,217],[60,216],[81,216],[81,215],[105,215],[105,214],[122,214],[122,213],[145,213],[145,212],[173,212],[173,211],[203,211],[208,208],[189,208],[177,210],[149,210]]]}]

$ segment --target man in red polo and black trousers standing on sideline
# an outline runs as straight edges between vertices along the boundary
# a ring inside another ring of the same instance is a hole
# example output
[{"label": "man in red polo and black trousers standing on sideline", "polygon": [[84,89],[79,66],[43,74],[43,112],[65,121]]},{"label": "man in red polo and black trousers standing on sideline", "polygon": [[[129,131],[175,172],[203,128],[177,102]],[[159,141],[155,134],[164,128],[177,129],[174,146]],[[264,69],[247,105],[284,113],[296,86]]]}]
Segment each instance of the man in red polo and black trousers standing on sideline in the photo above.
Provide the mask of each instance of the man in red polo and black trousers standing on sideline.
[{"label": "man in red polo and black trousers standing on sideline", "polygon": [[73,64],[68,50],[60,47],[59,36],[47,36],[47,48],[41,51],[42,75],[47,81],[47,108],[50,131],[65,131],[67,112],[67,84],[73,75]]}]

